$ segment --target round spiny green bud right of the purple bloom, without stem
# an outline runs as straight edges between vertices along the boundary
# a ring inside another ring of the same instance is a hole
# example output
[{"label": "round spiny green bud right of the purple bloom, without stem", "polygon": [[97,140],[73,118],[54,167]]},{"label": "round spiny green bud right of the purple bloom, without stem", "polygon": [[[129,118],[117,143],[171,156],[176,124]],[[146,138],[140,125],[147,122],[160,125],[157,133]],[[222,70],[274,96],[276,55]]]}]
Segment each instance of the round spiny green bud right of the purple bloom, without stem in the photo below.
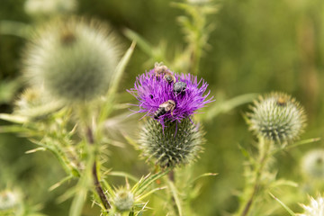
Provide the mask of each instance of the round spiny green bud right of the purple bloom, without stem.
[{"label": "round spiny green bud right of the purple bloom, without stem", "polygon": [[261,96],[247,116],[249,129],[257,136],[279,143],[297,139],[306,121],[300,103],[283,93]]}]

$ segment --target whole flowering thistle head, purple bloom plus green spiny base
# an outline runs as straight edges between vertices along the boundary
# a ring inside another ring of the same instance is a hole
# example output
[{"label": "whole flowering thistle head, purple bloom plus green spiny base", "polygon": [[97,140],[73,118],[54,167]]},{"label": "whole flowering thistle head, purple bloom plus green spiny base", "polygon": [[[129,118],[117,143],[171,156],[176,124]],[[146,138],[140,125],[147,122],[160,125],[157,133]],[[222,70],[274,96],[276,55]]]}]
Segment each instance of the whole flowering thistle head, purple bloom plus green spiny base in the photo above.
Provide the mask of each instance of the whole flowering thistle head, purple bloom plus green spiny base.
[{"label": "whole flowering thistle head, purple bloom plus green spiny base", "polygon": [[139,100],[136,112],[150,117],[140,131],[139,148],[142,156],[158,166],[187,164],[197,157],[203,143],[202,129],[191,118],[212,97],[207,99],[210,92],[204,94],[208,85],[202,79],[197,82],[196,76],[174,74],[166,66],[166,71],[158,73],[160,67],[138,76],[129,91]]}]

